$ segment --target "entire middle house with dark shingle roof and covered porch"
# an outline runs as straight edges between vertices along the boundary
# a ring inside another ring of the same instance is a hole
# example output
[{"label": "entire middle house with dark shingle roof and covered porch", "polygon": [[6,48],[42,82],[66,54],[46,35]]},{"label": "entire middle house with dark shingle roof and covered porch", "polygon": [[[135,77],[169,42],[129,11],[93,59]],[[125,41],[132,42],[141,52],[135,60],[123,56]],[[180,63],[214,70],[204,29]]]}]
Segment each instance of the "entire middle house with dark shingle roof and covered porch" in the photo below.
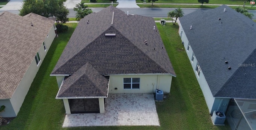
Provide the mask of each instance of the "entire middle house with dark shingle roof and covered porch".
[{"label": "entire middle house with dark shingle roof and covered porch", "polygon": [[104,113],[108,93],[170,93],[176,74],[154,19],[109,6],[81,19],[50,76],[70,114]]}]

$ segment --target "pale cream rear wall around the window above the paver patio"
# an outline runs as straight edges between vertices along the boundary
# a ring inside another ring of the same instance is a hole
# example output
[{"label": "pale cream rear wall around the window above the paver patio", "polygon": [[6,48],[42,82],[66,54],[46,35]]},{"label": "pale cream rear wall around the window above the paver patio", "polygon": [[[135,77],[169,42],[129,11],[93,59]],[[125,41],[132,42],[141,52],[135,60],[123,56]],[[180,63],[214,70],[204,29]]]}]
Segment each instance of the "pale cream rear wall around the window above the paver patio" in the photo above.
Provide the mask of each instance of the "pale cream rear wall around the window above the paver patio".
[{"label": "pale cream rear wall around the window above the paver patio", "polygon": [[[124,89],[124,78],[140,78],[140,89]],[[157,85],[164,93],[170,93],[170,75],[116,75],[109,77],[109,93],[155,93]],[[117,88],[117,90],[115,90]]]}]

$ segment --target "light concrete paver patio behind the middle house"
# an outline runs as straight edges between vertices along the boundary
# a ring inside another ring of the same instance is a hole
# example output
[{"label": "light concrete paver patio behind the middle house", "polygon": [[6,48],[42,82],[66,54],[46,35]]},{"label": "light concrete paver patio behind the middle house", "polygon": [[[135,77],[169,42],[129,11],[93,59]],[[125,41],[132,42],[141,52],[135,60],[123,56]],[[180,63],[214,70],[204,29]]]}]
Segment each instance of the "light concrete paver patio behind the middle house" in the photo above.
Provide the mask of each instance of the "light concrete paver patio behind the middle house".
[{"label": "light concrete paver patio behind the middle house", "polygon": [[104,114],[67,114],[62,127],[76,126],[160,126],[154,94],[110,93]]}]

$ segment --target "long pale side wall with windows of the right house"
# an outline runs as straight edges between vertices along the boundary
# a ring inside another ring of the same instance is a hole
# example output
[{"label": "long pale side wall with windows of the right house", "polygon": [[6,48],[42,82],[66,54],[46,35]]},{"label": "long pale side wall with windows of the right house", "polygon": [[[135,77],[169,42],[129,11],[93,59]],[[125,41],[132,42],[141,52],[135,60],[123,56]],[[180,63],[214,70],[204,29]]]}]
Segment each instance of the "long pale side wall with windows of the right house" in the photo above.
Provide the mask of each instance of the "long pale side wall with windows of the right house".
[{"label": "long pale side wall with windows of the right house", "polygon": [[[181,34],[181,31],[182,31],[182,34]],[[196,75],[196,79],[200,85],[200,88],[202,89],[202,93],[204,95],[204,99],[206,101],[206,105],[208,106],[208,109],[209,109],[209,113],[212,114],[212,107],[213,107],[213,104],[214,104],[214,97],[212,95],[212,92],[210,90],[210,87],[204,77],[204,73],[201,71],[200,73],[200,76],[198,76],[197,72],[196,72],[196,65],[197,65],[197,59],[196,59],[196,56],[194,57],[194,60],[192,62],[192,55],[193,55],[193,49],[192,47],[190,46],[189,50],[187,50],[187,47],[188,47],[188,39],[186,37],[186,33],[184,32],[183,28],[182,28],[182,25],[180,25],[180,28],[179,28],[179,34],[181,35],[181,40],[183,41],[184,43],[184,50],[186,51],[187,55],[188,55],[188,59],[190,60],[190,63],[192,65],[192,68],[194,70],[194,74]],[[200,63],[199,63],[200,65]]]}]

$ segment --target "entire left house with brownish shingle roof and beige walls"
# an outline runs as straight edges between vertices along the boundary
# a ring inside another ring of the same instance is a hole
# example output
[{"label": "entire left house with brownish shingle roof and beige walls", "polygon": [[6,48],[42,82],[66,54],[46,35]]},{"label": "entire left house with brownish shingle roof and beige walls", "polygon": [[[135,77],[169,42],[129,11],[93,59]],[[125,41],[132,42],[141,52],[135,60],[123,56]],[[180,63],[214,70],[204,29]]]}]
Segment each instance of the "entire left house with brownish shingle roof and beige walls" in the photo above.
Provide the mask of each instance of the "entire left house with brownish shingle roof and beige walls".
[{"label": "entire left house with brownish shingle roof and beige walls", "polygon": [[3,117],[15,117],[55,34],[55,20],[10,12],[0,14],[0,106]]}]

